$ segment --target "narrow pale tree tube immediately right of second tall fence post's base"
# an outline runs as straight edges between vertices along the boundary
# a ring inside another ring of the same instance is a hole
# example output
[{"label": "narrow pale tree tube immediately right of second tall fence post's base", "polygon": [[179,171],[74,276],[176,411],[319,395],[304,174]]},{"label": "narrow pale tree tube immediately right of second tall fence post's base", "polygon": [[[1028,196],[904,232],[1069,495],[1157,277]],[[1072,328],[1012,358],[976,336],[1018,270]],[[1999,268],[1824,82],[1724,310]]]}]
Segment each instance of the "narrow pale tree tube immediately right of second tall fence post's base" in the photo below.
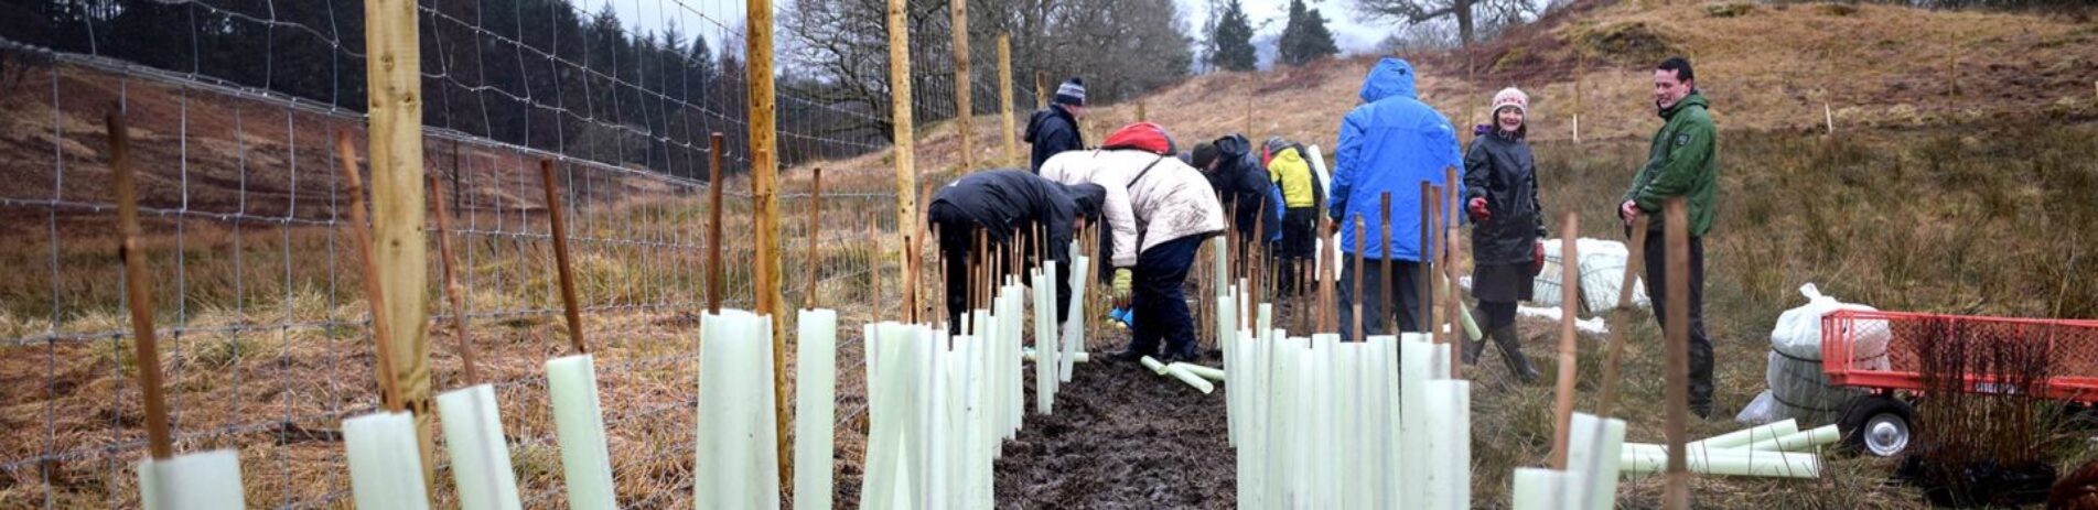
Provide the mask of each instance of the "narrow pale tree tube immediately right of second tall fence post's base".
[{"label": "narrow pale tree tube immediately right of second tall fence post's base", "polygon": [[[963,319],[967,321],[967,319]],[[837,420],[837,311],[795,319],[793,508],[831,508]]]}]

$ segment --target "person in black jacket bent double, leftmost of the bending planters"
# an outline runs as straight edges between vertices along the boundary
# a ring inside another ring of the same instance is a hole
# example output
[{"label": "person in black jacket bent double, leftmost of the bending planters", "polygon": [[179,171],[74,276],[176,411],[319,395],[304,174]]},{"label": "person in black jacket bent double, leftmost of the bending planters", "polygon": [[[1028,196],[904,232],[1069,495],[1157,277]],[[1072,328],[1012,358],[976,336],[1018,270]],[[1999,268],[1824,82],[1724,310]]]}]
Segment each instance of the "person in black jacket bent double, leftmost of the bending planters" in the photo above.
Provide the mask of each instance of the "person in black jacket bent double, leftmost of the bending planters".
[{"label": "person in black jacket bent double, leftmost of the bending planters", "polygon": [[[940,187],[925,206],[925,220],[940,235],[940,256],[946,258],[948,330],[961,332],[961,315],[969,311],[969,262],[1005,260],[997,254],[1013,248],[1032,254],[1020,239],[1036,227],[1049,233],[1049,260],[1062,273],[1055,279],[1055,309],[1057,317],[1066,317],[1070,239],[1085,220],[1099,218],[1104,199],[1106,189],[1099,185],[1059,185],[1022,170],[976,172]],[[976,254],[978,233],[988,241],[986,254]]]}]

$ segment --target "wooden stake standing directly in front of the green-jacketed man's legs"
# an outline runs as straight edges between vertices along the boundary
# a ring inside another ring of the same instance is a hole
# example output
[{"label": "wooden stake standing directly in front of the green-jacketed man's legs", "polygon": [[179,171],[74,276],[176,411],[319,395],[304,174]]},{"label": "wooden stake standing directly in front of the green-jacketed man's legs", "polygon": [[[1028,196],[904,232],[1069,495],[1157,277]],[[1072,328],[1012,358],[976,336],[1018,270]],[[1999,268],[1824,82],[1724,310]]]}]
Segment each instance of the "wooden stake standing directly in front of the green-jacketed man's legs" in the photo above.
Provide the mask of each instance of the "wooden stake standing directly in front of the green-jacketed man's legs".
[{"label": "wooden stake standing directly in front of the green-jacketed man's legs", "polygon": [[1668,487],[1662,506],[1680,510],[1691,506],[1689,464],[1683,443],[1689,426],[1689,342],[1691,342],[1691,231],[1689,208],[1683,197],[1672,197],[1664,206],[1668,218],[1662,222],[1668,241]]}]

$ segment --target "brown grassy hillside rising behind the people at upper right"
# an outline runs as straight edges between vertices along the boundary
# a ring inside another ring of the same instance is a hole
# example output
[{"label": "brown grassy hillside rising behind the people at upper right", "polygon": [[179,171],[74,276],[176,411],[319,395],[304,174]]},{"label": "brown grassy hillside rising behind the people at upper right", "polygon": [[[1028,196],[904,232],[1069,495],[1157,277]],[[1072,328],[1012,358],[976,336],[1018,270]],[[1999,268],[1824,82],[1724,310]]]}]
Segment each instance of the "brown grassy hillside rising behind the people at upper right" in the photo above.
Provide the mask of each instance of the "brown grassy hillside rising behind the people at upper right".
[{"label": "brown grassy hillside rising behind the people at upper right", "polygon": [[[1582,139],[1651,134],[1660,126],[1651,65],[1666,55],[1695,61],[1722,130],[1817,132],[1829,118],[1838,130],[2098,120],[2098,21],[2067,15],[1754,2],[1641,8],[1584,0],[1471,50],[1408,59],[1420,67],[1422,99],[1460,126],[1485,120],[1494,90],[1525,88],[1532,136],[1550,141],[1574,136],[1576,113]],[[1190,147],[1248,130],[1330,147],[1372,63],[1355,57],[1198,76],[1139,101],[1089,109],[1087,141],[1133,122],[1141,105],[1146,120]],[[999,157],[999,118],[982,115],[971,128],[973,160]],[[919,170],[955,170],[955,145],[952,124],[921,128]],[[825,166],[841,168],[833,176],[890,172],[885,153]]]}]

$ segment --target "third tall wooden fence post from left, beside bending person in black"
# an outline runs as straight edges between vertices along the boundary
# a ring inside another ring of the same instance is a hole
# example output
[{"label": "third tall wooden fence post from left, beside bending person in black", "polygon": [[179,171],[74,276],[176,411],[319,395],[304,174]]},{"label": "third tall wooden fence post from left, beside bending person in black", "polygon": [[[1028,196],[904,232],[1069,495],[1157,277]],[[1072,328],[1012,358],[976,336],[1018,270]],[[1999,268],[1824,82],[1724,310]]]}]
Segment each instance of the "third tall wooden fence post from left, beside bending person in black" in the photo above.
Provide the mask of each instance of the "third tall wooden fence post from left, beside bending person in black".
[{"label": "third tall wooden fence post from left, beside bending person in black", "polygon": [[915,319],[917,267],[911,264],[911,233],[917,225],[917,168],[913,166],[913,143],[917,141],[911,120],[911,25],[904,19],[906,0],[890,0],[890,115],[894,118],[894,162],[896,162],[896,235],[904,241],[904,317]]}]

